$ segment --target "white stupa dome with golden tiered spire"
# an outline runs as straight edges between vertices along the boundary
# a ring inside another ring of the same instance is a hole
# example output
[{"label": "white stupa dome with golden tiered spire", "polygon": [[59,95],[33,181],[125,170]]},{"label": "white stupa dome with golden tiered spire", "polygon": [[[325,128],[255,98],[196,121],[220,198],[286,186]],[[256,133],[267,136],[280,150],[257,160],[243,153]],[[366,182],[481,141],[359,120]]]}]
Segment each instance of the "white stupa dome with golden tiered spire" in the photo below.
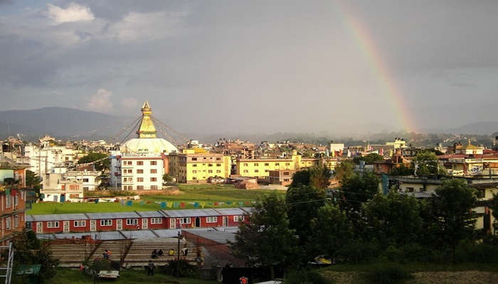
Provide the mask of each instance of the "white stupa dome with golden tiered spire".
[{"label": "white stupa dome with golden tiered spire", "polygon": [[163,138],[157,138],[156,128],[150,118],[152,109],[149,102],[142,106],[142,121],[137,131],[138,138],[130,139],[120,147],[121,153],[171,153],[178,149]]}]

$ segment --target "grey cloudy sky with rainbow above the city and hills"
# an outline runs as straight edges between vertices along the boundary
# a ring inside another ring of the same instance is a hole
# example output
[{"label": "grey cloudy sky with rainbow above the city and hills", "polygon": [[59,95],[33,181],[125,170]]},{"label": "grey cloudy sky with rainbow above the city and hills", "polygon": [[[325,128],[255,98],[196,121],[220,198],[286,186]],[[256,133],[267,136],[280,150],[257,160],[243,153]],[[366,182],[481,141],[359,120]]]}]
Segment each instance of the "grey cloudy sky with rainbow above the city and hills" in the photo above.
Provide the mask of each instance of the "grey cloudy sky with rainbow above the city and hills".
[{"label": "grey cloudy sky with rainbow above the city and hills", "polygon": [[0,110],[199,133],[497,121],[498,1],[0,0]]}]

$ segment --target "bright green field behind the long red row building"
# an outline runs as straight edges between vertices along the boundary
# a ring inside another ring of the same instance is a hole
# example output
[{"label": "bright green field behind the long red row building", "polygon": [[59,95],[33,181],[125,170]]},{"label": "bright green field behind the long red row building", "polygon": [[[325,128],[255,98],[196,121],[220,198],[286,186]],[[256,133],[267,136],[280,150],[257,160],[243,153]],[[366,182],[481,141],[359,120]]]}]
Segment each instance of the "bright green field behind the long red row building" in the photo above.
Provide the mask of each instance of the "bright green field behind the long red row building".
[{"label": "bright green field behind the long red row building", "polygon": [[[244,202],[242,207],[250,207],[252,202],[267,195],[272,190],[240,190],[233,185],[179,185],[179,195],[142,195],[141,200],[134,201],[132,206],[122,206],[117,202],[95,203],[36,203],[26,214],[70,214],[90,212],[129,212],[129,211],[154,211],[161,208],[161,204],[155,202],[184,202],[185,207],[166,207],[164,209],[204,209],[240,207],[239,202]],[[279,195],[285,192],[277,191]],[[140,204],[143,201],[143,204]],[[147,203],[150,202],[150,203]],[[198,202],[198,207],[194,204]],[[224,202],[216,206],[214,202]],[[231,202],[231,204],[226,204]],[[248,203],[249,202],[249,203]],[[210,204],[211,203],[211,204]]]}]

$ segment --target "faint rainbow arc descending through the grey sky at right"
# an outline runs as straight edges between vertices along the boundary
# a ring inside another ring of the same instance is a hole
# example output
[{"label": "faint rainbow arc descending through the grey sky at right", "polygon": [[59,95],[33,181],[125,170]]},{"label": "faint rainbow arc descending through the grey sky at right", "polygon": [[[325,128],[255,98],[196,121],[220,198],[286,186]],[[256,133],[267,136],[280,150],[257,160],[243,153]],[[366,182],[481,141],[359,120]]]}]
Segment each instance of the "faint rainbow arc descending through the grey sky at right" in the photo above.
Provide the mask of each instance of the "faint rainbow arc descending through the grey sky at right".
[{"label": "faint rainbow arc descending through the grey sky at right", "polygon": [[398,118],[398,124],[408,132],[415,131],[417,128],[413,115],[406,105],[406,100],[401,95],[394,77],[389,72],[388,66],[376,47],[375,40],[371,37],[369,30],[361,21],[351,16],[351,13],[344,9],[343,5],[338,4],[337,8],[344,26],[349,30],[349,34],[352,35],[356,45],[369,63],[371,72],[378,77],[379,89],[386,96],[388,102],[391,103],[391,107]]}]

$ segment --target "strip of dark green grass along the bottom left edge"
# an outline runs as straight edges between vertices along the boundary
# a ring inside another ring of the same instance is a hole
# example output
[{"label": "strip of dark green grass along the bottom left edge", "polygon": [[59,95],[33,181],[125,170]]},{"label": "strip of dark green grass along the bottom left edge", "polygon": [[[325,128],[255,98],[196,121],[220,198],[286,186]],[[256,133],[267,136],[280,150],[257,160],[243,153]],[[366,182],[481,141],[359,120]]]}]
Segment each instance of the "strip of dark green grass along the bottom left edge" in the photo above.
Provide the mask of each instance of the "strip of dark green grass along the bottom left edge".
[{"label": "strip of dark green grass along the bottom left edge", "polygon": [[[174,278],[159,271],[154,271],[154,276],[147,276],[146,271],[121,271],[120,278],[117,280],[97,280],[97,283],[116,283],[116,284],[131,284],[131,283],[157,283],[157,284],[214,284],[216,281],[206,281],[191,278]],[[14,277],[13,283],[20,283]],[[90,276],[84,275],[80,271],[70,270],[68,268],[58,268],[54,278],[48,280],[52,284],[84,284],[93,283]]]}]

